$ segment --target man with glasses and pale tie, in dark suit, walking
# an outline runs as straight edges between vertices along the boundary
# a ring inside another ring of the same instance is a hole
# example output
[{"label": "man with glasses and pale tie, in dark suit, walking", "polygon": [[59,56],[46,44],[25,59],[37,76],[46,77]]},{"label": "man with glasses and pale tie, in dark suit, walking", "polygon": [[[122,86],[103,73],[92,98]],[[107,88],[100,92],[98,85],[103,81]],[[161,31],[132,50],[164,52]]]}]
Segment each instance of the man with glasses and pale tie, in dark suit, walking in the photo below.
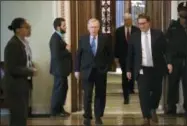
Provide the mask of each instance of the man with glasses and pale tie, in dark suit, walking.
[{"label": "man with glasses and pale tie, in dark suit, walking", "polygon": [[138,25],[141,32],[133,34],[129,41],[127,77],[132,79],[131,68],[134,64],[144,125],[150,125],[151,122],[158,122],[156,109],[161,97],[162,79],[167,72],[166,64],[169,73],[172,72],[172,65],[162,31],[151,29],[150,17],[145,14],[139,15]]}]

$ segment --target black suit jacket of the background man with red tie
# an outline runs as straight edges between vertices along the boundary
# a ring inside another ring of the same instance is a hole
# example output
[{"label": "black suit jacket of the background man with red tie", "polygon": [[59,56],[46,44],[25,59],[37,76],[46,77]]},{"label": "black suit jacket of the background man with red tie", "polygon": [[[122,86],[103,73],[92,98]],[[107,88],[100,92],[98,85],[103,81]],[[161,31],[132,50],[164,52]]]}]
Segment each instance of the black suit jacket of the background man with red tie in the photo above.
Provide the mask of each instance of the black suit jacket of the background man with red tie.
[{"label": "black suit jacket of the background man with red tie", "polygon": [[[135,32],[139,31],[139,28],[132,26],[131,27],[131,35]],[[126,58],[127,58],[127,50],[128,50],[128,43],[125,36],[125,27],[121,26],[116,29],[115,32],[116,36],[116,43],[115,43],[115,57],[119,58],[119,62],[121,67],[125,67],[126,65]]]}]

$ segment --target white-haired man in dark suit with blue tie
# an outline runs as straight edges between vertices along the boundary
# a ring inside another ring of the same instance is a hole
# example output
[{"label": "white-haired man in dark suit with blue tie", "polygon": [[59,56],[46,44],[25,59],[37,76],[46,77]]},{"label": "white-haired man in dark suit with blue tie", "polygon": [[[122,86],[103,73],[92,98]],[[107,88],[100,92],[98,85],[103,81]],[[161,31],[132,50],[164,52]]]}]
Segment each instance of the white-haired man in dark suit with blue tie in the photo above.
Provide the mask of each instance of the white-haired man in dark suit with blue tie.
[{"label": "white-haired man in dark suit with blue tie", "polygon": [[84,124],[90,125],[92,119],[92,92],[95,86],[94,112],[96,124],[102,124],[106,103],[106,77],[112,64],[111,38],[98,34],[99,21],[88,21],[90,34],[82,36],[78,43],[75,77],[81,79],[84,90]]}]

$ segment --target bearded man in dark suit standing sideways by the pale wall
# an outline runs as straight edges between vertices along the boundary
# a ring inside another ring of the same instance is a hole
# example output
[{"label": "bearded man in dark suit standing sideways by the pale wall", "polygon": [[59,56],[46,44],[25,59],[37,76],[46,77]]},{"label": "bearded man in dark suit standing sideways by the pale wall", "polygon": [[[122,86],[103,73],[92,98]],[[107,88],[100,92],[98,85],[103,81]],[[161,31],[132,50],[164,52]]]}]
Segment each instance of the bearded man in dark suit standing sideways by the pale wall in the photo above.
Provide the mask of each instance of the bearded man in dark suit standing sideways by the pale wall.
[{"label": "bearded man in dark suit standing sideways by the pale wall", "polygon": [[54,86],[51,98],[51,116],[69,116],[64,105],[68,90],[67,77],[72,69],[70,45],[64,40],[66,23],[63,18],[56,18],[53,23],[56,30],[50,39],[51,64],[50,73],[54,76]]}]

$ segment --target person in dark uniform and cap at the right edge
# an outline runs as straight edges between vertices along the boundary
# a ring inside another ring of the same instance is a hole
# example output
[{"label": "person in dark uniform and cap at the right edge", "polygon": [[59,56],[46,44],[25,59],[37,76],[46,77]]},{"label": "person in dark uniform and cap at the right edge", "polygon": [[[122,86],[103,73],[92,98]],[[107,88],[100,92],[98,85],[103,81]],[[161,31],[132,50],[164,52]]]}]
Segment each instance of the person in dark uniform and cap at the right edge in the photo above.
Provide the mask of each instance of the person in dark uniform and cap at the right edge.
[{"label": "person in dark uniform and cap at the right edge", "polygon": [[176,103],[179,101],[179,81],[182,78],[184,108],[187,111],[187,2],[178,5],[179,18],[172,21],[166,37],[168,39],[168,50],[172,55],[173,72],[169,75],[168,109],[166,114],[176,114]]}]

